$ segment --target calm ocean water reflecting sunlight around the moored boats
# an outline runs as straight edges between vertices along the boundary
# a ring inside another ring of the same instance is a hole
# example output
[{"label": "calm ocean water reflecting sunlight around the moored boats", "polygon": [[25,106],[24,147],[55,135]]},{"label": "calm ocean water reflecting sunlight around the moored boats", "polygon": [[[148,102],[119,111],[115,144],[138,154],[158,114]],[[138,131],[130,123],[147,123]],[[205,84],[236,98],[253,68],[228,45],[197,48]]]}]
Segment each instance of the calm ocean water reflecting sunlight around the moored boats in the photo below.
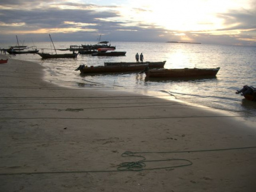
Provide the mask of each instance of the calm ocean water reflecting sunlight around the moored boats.
[{"label": "calm ocean water reflecting sunlight around the moored boats", "polygon": [[[55,42],[56,49],[70,45],[96,44],[97,42]],[[14,44],[1,44],[8,48]],[[37,49],[53,49],[46,43],[27,43]],[[42,60],[39,55],[17,55],[14,59],[30,60],[47,68],[46,80],[73,88],[123,89],[145,95],[167,95],[169,98],[206,107],[230,111],[249,121],[256,121],[256,102],[236,95],[236,89],[244,85],[256,87],[256,47],[222,46],[212,44],[111,42],[116,51],[125,51],[126,56],[105,57],[78,55],[76,59]],[[41,50],[40,50],[41,52]],[[44,50],[54,53],[54,50]],[[57,51],[61,52],[61,51]],[[69,52],[69,51],[68,51]],[[65,53],[65,52],[61,52]],[[143,53],[145,61],[164,61],[165,68],[216,68],[216,78],[176,79],[150,81],[145,74],[124,73],[118,75],[80,75],[75,71],[79,65],[104,65],[104,62],[135,62],[136,53]]]}]

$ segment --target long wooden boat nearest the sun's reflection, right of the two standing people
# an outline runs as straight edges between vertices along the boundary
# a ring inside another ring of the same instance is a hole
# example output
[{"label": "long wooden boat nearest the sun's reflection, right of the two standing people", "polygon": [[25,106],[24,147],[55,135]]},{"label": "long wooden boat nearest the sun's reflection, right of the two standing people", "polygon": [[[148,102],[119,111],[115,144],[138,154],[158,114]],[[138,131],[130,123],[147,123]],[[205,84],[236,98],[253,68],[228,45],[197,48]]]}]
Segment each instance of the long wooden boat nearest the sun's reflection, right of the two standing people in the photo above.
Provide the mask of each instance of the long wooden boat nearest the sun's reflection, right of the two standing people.
[{"label": "long wooden boat nearest the sun's reflection, right of the two standing people", "polygon": [[193,69],[149,69],[145,71],[148,78],[195,78],[202,76],[216,76],[220,68]]}]

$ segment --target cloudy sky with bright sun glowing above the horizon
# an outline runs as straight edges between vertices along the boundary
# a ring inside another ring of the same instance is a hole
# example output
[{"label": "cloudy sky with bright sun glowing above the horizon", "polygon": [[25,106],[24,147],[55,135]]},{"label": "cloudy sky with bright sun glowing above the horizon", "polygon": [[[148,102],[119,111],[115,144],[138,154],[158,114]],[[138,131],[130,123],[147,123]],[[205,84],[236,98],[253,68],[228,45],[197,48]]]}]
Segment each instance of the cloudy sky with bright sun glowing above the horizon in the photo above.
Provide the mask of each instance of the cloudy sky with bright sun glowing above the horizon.
[{"label": "cloudy sky with bright sun glowing above the horizon", "polygon": [[181,41],[256,46],[256,0],[1,0],[0,43]]}]

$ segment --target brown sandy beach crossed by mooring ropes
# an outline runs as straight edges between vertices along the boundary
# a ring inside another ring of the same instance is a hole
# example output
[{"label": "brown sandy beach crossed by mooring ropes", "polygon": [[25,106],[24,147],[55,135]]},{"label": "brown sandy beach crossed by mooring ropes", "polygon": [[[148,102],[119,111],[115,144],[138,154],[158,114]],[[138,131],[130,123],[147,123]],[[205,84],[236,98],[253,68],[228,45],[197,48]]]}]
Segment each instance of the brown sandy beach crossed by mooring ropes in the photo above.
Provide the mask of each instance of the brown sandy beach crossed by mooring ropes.
[{"label": "brown sandy beach crossed by mooring ropes", "polygon": [[59,87],[38,63],[4,58],[0,191],[256,191],[255,124],[176,100]]}]

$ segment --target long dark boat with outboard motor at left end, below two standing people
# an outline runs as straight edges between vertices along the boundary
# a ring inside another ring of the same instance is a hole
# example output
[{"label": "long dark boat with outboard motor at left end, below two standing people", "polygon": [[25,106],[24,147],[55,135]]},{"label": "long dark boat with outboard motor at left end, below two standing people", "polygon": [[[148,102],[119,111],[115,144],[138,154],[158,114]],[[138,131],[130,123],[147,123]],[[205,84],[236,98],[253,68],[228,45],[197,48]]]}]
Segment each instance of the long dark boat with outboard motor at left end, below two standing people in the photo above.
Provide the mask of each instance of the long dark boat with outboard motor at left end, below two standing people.
[{"label": "long dark boat with outboard motor at left end, below two standing people", "polygon": [[81,73],[116,73],[116,72],[132,72],[142,71],[148,66],[148,64],[140,65],[121,65],[121,66],[85,66],[80,65],[75,71]]}]

